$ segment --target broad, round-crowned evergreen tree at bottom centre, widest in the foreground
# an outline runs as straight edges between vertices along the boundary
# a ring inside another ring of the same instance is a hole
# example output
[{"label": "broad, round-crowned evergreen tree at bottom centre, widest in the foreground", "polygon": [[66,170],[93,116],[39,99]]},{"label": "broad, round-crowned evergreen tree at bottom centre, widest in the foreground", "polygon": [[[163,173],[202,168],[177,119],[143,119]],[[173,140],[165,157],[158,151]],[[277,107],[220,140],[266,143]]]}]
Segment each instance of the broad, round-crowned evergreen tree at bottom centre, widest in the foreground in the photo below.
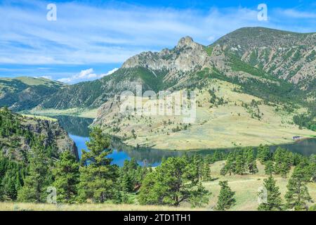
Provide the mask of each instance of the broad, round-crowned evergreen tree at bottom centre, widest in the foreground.
[{"label": "broad, round-crowned evergreen tree at bottom centre, widest in the foreground", "polygon": [[142,205],[174,205],[188,202],[193,206],[208,202],[209,191],[198,181],[195,165],[185,156],[168,158],[148,173],[140,187],[138,201]]}]

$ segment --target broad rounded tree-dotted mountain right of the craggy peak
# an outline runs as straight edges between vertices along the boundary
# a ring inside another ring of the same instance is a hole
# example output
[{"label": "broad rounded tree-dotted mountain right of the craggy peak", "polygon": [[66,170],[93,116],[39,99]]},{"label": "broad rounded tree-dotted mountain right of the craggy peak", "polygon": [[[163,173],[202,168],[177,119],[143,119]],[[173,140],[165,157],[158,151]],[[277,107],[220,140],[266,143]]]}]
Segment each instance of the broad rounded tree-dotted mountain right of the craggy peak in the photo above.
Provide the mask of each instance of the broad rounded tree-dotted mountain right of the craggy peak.
[{"label": "broad rounded tree-dotted mountain right of the craggy peak", "polygon": [[218,39],[213,46],[275,77],[314,91],[316,33],[295,33],[263,27],[245,27]]}]

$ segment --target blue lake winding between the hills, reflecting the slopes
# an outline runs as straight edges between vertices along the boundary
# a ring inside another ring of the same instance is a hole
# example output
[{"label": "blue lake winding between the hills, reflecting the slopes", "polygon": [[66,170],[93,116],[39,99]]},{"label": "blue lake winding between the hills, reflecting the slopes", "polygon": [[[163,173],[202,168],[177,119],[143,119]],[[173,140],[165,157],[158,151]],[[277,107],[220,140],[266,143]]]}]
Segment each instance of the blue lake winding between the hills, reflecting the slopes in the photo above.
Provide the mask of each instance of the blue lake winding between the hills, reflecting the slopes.
[{"label": "blue lake winding between the hills, reflecting the slopes", "polygon": [[[71,117],[71,116],[56,116],[60,125],[70,134],[70,137],[77,145],[79,158],[81,158],[81,150],[86,150],[86,141],[88,141],[88,125],[93,122],[92,119]],[[279,145],[282,148],[287,148],[291,152],[301,153],[302,155],[316,154],[316,139],[303,139],[296,141],[293,144]],[[270,150],[274,151],[278,146],[270,146]],[[214,153],[216,150],[199,150],[199,151],[176,151],[176,150],[157,150],[150,148],[133,148],[121,143],[119,139],[112,139],[113,153],[110,158],[113,158],[113,164],[122,166],[124,160],[131,160],[135,158],[140,165],[143,166],[157,166],[162,161],[162,158],[169,158],[180,156],[184,153],[201,155],[208,155]],[[224,149],[223,151],[230,151],[232,149]]]}]

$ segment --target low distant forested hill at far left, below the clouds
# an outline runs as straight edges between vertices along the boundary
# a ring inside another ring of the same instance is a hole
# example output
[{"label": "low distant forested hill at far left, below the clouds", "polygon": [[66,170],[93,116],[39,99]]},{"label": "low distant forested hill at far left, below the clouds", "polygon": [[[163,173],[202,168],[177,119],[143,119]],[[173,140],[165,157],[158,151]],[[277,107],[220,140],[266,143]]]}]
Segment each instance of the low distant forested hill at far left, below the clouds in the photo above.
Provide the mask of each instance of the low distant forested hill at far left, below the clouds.
[{"label": "low distant forested hill at far left, below the clouds", "polygon": [[31,109],[62,86],[65,84],[45,78],[0,78],[0,106],[15,111]]}]

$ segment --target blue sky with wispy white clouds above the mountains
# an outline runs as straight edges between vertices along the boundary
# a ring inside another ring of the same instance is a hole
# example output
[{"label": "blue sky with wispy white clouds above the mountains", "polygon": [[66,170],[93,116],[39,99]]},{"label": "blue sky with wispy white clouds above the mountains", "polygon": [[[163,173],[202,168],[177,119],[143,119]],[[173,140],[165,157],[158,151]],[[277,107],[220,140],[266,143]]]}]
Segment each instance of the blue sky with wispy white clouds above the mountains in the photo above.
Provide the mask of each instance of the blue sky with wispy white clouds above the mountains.
[{"label": "blue sky with wispy white clouds above the mountains", "polygon": [[[48,21],[46,6],[57,6]],[[258,4],[268,6],[259,21]],[[211,44],[240,27],[316,32],[315,1],[0,1],[0,77],[98,79],[142,51],[190,35]]]}]

